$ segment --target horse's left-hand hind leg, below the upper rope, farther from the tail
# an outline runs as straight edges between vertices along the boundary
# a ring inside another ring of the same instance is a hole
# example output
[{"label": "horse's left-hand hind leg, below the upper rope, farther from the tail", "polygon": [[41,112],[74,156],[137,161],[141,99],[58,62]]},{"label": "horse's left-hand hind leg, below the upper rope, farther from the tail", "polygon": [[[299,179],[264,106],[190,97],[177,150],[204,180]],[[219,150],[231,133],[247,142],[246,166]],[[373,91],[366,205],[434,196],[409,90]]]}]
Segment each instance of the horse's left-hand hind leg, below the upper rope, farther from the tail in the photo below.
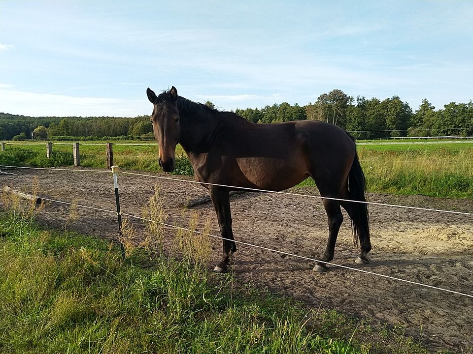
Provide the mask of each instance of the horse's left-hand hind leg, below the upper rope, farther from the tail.
[{"label": "horse's left-hand hind leg, below the upper rope, farther from the tail", "polygon": [[[325,195],[325,197],[327,197]],[[329,238],[327,240],[327,247],[325,249],[324,256],[321,261],[330,262],[334,259],[335,253],[335,243],[337,242],[338,230],[340,230],[340,225],[343,222],[343,215],[340,210],[340,203],[331,199],[323,200],[325,211],[327,212],[327,217],[329,219]],[[317,262],[317,265],[314,266],[315,271],[324,272],[327,271],[327,265],[323,262]]]}]

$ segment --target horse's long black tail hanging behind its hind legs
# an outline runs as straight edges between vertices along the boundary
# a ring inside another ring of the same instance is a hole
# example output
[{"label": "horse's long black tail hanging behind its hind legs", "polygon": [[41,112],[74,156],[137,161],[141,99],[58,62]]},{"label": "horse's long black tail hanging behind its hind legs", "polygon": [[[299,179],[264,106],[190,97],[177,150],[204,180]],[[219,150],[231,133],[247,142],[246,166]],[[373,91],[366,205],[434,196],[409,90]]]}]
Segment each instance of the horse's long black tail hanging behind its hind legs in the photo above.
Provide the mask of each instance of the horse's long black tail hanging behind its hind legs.
[{"label": "horse's long black tail hanging behind its hind legs", "polygon": [[[348,175],[348,193],[351,200],[366,202],[366,178],[360,166],[358,154],[355,151],[355,159],[351,165],[350,173]],[[370,216],[368,214],[368,205],[366,203],[352,203],[353,206],[353,237],[356,240],[359,238],[363,245],[365,241],[370,242]],[[368,238],[368,239],[366,239]]]}]

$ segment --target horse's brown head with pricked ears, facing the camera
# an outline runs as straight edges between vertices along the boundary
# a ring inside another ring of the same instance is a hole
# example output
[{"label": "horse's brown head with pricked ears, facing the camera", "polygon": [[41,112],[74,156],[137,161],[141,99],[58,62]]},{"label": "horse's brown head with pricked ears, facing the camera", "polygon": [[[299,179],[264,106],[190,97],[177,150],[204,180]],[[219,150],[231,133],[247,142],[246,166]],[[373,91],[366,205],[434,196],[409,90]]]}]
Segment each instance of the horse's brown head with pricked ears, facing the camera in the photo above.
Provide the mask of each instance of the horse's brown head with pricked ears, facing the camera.
[{"label": "horse's brown head with pricked ears, facing the camera", "polygon": [[151,123],[154,137],[159,145],[159,165],[165,172],[170,172],[175,165],[176,145],[179,143],[180,123],[177,109],[177,90],[173,86],[159,96],[147,89],[149,101],[154,105]]}]

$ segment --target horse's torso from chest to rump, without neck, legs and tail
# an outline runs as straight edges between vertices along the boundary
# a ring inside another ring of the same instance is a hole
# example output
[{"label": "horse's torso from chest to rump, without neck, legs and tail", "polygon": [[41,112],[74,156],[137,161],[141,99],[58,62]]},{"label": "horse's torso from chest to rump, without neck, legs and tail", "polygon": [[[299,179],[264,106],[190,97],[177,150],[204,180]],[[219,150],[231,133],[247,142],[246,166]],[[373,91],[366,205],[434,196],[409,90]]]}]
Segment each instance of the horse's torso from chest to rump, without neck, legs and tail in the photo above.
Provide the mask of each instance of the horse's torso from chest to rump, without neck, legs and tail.
[{"label": "horse's torso from chest to rump, without neck, legs and tail", "polygon": [[321,121],[241,121],[220,133],[196,169],[199,179],[211,183],[283,190],[317,170],[347,173],[338,165],[345,165],[352,155],[350,137]]}]

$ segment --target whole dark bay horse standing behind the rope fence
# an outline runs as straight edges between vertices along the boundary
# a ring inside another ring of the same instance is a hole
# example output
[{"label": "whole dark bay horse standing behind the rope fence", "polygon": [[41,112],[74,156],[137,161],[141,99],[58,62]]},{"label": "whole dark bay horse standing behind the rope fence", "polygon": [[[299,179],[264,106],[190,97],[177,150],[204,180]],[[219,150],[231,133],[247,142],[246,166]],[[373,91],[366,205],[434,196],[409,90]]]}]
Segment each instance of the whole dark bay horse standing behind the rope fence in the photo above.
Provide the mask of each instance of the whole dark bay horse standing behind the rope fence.
[{"label": "whole dark bay horse standing behind the rope fence", "polygon": [[[180,97],[174,87],[158,96],[149,88],[146,93],[154,105],[151,122],[163,171],[174,169],[175,148],[180,144],[197,179],[210,193],[225,238],[223,258],[215,271],[227,271],[236,252],[229,199],[232,188],[206,183],[281,191],[312,177],[322,197],[366,201],[365,176],[355,143],[336,125],[314,120],[254,124],[235,113]],[[355,262],[367,264],[371,250],[367,205],[332,199],[323,199],[323,203],[329,237],[321,261],[334,258],[342,206],[352,221],[355,239],[360,240],[361,252]],[[323,262],[314,270],[327,270]]]}]

